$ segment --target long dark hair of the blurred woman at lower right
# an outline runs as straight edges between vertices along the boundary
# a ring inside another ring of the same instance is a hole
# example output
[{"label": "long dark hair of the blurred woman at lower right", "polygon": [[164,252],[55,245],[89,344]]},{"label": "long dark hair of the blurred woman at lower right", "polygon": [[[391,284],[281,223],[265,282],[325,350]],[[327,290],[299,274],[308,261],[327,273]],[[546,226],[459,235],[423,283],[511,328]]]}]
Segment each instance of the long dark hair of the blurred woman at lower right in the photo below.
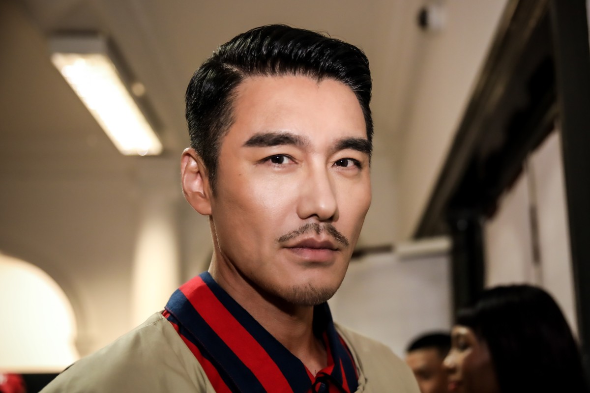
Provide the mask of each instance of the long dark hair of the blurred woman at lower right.
[{"label": "long dark hair of the blurred woman at lower right", "polygon": [[578,345],[545,290],[484,290],[476,305],[457,313],[457,323],[486,342],[501,393],[588,392]]}]

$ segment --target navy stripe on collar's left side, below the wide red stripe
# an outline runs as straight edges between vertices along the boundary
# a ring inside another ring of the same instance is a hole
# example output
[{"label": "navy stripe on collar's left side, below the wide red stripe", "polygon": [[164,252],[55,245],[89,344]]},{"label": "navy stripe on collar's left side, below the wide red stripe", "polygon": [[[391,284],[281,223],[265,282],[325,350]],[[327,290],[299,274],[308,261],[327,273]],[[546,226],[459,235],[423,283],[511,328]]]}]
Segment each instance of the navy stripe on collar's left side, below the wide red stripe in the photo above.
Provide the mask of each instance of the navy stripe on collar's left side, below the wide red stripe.
[{"label": "navy stripe on collar's left side, below the wide red stripe", "polygon": [[[182,335],[195,344],[201,353],[215,366],[225,384],[235,392],[266,392],[253,372],[219,338],[217,333],[193,308],[186,296],[177,289],[166,309],[178,321]],[[189,321],[186,326],[181,321]]]}]

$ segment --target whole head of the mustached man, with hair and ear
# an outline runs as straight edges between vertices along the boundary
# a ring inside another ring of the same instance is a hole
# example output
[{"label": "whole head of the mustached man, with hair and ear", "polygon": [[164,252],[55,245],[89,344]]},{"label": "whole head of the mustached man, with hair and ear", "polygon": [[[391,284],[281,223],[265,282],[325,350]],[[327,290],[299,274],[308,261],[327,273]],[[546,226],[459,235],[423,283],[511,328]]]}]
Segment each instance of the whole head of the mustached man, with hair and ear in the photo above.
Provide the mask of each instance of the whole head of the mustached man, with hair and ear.
[{"label": "whole head of the mustached man, with hair and ear", "polygon": [[371,203],[371,75],[360,49],[266,26],[186,93],[186,199],[209,216],[209,271],[231,295],[314,305],[342,282]]}]

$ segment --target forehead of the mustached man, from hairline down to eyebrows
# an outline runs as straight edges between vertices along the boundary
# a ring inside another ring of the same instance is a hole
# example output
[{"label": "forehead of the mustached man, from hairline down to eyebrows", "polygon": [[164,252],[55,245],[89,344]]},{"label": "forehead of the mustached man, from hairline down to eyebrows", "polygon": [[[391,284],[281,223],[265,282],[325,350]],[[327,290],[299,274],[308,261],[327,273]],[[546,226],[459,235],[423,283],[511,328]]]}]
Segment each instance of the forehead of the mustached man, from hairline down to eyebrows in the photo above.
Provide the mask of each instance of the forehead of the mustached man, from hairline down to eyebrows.
[{"label": "forehead of the mustached man, from hairline down to eyebrows", "polygon": [[[332,85],[320,87],[317,80],[303,75],[246,78],[237,88],[225,136],[239,128],[240,144],[245,147],[306,147],[322,140],[337,145],[337,150],[365,151],[367,144],[370,150],[356,95],[342,82],[329,82]],[[351,139],[356,140],[354,146]]]}]

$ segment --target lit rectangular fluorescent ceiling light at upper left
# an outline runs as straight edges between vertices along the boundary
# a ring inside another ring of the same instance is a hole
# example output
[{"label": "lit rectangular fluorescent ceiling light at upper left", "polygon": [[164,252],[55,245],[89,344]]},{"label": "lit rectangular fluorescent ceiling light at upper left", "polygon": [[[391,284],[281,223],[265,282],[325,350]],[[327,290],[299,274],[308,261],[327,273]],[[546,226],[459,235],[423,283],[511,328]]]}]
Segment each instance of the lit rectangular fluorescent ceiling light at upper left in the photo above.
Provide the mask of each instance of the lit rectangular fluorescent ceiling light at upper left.
[{"label": "lit rectangular fluorescent ceiling light at upper left", "polygon": [[120,77],[100,37],[59,37],[51,61],[122,154],[162,153],[162,143]]}]

